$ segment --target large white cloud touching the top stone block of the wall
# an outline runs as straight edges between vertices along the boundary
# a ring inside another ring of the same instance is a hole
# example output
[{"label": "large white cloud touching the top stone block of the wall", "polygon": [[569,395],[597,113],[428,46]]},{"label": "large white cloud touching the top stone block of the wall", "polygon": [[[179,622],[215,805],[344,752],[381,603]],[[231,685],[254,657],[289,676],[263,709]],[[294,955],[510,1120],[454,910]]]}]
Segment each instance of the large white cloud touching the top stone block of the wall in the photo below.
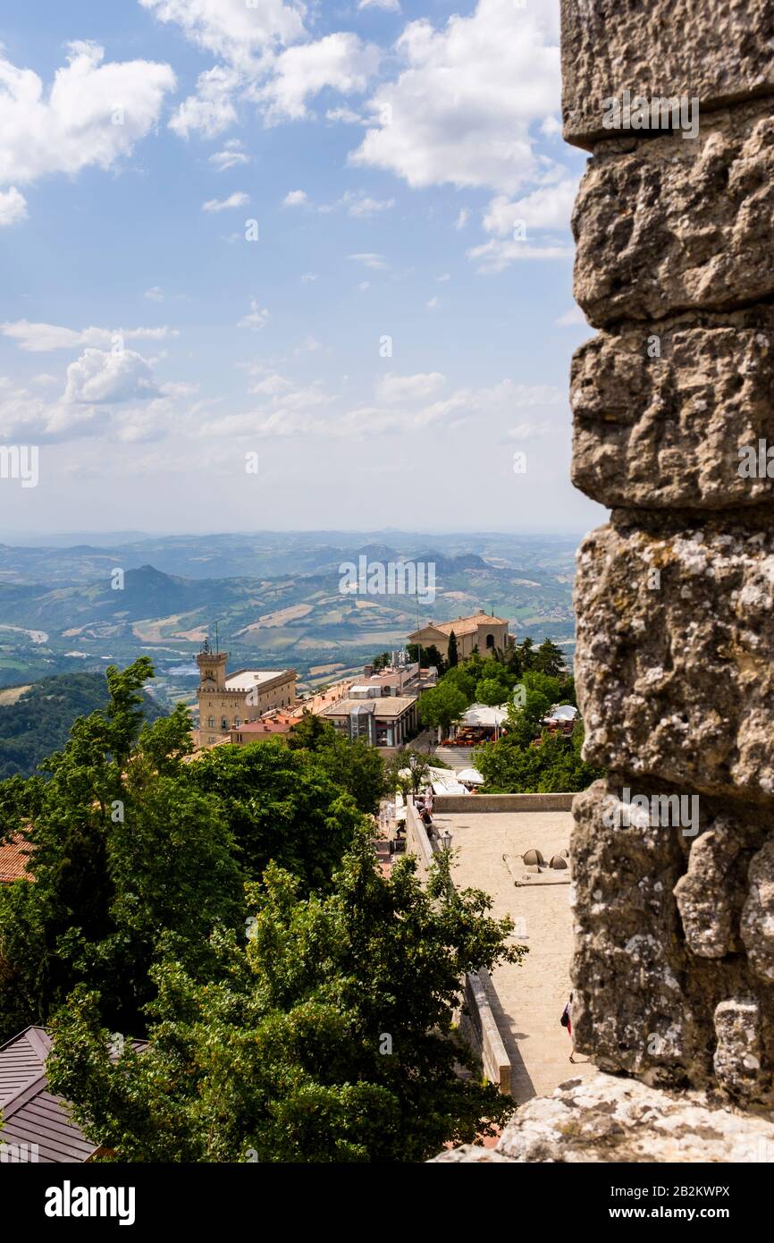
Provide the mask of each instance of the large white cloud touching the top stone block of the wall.
[{"label": "large white cloud touching the top stone block of the wall", "polygon": [[[554,11],[557,10],[557,11]],[[374,117],[350,162],[389,169],[415,188],[451,183],[514,193],[537,160],[529,127],[559,98],[558,5],[478,0],[435,29],[410,22],[403,68],[369,102]]]}]

